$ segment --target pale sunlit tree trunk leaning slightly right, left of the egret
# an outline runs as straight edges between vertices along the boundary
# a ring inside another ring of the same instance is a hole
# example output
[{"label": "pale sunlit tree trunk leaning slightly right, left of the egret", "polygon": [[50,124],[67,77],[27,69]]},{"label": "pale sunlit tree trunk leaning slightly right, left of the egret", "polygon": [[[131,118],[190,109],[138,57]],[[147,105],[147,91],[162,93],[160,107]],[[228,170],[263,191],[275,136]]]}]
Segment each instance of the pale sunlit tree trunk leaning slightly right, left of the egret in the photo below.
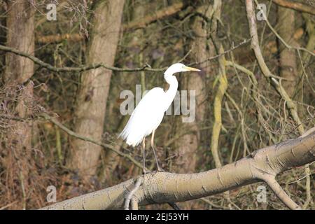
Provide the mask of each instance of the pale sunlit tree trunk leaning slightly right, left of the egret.
[{"label": "pale sunlit tree trunk leaning slightly right, left of the egret", "polygon": [[[94,25],[87,50],[86,63],[102,62],[113,65],[124,0],[99,1],[94,10]],[[111,71],[104,68],[92,69],[82,74],[81,87],[77,97],[75,131],[87,137],[100,140],[103,134],[106,101],[109,93]],[[100,146],[73,139],[73,153],[69,165],[87,176],[96,172]]]}]

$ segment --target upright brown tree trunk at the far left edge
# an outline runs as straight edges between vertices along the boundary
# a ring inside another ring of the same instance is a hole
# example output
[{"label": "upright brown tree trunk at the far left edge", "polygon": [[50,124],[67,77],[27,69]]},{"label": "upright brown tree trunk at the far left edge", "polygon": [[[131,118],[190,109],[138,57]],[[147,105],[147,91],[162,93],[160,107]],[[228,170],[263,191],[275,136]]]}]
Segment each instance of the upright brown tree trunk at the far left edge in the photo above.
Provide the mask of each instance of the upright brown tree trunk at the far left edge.
[{"label": "upright brown tree trunk at the far left edge", "polygon": [[[34,6],[29,1],[8,1],[8,17],[6,19],[6,45],[29,55],[34,55]],[[27,82],[34,73],[34,62],[6,52],[6,69],[4,81],[6,86],[16,91],[16,99],[9,102],[13,116],[26,118],[31,113],[33,104],[33,83]],[[20,87],[20,85],[25,85]],[[31,121],[10,120],[11,130],[6,138],[5,167],[8,172],[8,188],[15,188],[15,180],[20,183],[22,192],[22,208],[26,208],[29,160],[31,158]],[[12,199],[11,199],[12,200]]]}]

